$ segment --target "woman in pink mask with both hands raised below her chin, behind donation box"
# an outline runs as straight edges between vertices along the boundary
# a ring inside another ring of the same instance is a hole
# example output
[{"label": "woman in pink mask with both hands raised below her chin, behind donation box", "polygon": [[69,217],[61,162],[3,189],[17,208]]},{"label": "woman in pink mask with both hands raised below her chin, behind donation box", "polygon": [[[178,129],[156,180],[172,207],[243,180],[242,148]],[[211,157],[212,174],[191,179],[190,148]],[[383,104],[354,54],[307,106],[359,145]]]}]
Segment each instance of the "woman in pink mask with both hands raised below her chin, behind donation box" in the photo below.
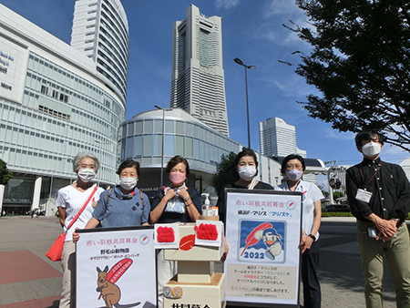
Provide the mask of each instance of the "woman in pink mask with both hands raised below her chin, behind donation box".
[{"label": "woman in pink mask with both hands raised below her chin, behind donation box", "polygon": [[[169,160],[165,171],[169,174],[169,186],[158,190],[152,200],[149,220],[151,223],[195,222],[200,218],[202,203],[197,190],[187,187],[190,174],[187,159],[175,156]],[[157,282],[159,308],[163,306],[163,288],[177,273],[177,262],[164,260],[164,252],[157,255]]]}]

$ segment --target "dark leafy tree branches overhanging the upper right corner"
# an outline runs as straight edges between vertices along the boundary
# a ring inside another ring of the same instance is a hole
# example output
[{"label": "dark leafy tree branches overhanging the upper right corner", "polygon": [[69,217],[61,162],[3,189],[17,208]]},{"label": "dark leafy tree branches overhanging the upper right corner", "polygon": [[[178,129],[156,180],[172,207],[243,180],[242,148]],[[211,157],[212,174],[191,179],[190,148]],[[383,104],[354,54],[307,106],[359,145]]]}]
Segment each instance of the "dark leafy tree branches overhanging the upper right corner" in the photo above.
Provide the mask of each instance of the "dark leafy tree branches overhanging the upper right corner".
[{"label": "dark leafy tree branches overhanging the upper right corner", "polygon": [[[296,0],[310,26],[286,26],[313,48],[296,74],[320,95],[299,102],[340,131],[378,130],[410,151],[410,2]],[[288,65],[290,65],[288,63]]]}]

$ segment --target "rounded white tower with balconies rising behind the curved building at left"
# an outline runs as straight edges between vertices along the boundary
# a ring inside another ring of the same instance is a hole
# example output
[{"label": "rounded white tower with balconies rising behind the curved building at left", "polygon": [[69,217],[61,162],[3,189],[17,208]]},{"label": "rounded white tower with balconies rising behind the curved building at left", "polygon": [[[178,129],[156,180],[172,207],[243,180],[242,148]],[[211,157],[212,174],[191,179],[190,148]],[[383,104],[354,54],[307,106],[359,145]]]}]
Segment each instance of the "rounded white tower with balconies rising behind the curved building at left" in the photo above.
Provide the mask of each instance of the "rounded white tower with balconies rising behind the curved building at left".
[{"label": "rounded white tower with balconies rising behind the curved building at left", "polygon": [[119,0],[77,0],[71,46],[92,58],[125,104],[128,77],[128,19]]}]

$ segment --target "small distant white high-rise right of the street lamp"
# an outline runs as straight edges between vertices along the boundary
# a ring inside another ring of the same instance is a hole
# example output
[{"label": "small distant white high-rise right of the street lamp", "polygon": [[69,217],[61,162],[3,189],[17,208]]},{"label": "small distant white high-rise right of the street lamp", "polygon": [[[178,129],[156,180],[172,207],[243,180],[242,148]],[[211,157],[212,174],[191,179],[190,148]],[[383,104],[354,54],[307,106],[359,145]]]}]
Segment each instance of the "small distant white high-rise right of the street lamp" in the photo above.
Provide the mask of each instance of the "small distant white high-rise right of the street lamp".
[{"label": "small distant white high-rise right of the street lamp", "polygon": [[261,154],[283,157],[289,154],[299,154],[306,157],[306,151],[296,146],[296,130],[286,124],[282,118],[268,118],[259,123],[259,138]]}]

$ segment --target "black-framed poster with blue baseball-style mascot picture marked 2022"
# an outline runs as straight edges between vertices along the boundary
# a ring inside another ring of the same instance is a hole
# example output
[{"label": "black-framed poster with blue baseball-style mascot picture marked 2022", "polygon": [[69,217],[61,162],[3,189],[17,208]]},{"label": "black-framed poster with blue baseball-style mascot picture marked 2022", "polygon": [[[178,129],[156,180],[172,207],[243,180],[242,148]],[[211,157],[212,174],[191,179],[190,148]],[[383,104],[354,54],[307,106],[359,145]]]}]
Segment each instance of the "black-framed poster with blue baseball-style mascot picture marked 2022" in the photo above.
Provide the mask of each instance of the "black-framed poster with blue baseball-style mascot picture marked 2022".
[{"label": "black-framed poster with blue baseball-style mascot picture marked 2022", "polygon": [[298,305],[302,193],[226,193],[227,302]]}]

